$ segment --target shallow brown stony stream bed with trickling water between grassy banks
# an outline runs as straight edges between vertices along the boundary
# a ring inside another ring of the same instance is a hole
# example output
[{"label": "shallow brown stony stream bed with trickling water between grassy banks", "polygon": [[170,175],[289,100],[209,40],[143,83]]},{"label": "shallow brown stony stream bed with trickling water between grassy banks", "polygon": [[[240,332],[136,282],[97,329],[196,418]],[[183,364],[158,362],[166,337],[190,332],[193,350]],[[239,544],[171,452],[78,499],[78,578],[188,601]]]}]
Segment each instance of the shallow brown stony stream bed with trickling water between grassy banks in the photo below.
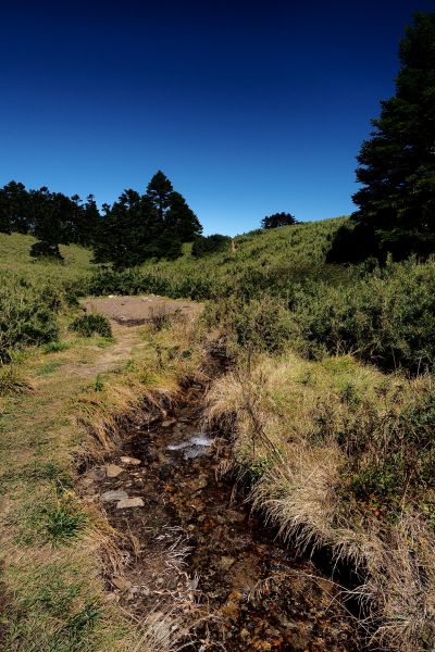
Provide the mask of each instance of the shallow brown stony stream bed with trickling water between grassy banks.
[{"label": "shallow brown stony stream bed with trickling water between grassy banks", "polygon": [[[363,644],[339,587],[273,540],[231,482],[201,427],[206,387],[154,424],[132,424],[123,449],[82,478],[125,535],[109,599],[138,622],[166,617],[188,650],[357,651]],[[133,500],[132,500],[133,499]]]}]

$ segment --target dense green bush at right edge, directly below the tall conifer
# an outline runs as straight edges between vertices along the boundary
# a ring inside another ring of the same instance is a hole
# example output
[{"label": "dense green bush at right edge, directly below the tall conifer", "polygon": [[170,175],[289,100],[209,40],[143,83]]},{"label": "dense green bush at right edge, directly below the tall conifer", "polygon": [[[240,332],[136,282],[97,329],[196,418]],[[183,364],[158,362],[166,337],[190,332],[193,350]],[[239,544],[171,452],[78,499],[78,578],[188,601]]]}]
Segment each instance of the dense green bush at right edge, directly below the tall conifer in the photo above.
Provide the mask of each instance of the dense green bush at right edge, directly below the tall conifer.
[{"label": "dense green bush at right edge, directly below the tall conifer", "polygon": [[320,281],[289,301],[309,354],[353,353],[384,369],[412,373],[435,363],[435,260],[375,268],[347,286]]}]

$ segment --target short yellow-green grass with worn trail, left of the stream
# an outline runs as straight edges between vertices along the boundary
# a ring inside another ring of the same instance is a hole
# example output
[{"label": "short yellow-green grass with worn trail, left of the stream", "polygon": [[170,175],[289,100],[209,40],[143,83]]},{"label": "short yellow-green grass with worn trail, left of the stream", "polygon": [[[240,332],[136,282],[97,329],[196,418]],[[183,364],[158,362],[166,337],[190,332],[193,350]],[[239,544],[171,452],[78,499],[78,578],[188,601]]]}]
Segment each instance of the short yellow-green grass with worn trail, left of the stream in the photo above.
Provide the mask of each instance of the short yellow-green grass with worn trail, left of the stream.
[{"label": "short yellow-green grass with worn trail, left of the stream", "polygon": [[[17,377],[26,377],[32,391],[3,398],[1,415],[4,649],[170,652],[179,647],[171,632],[161,636],[164,616],[139,626],[105,601],[102,568],[123,570],[120,535],[96,507],[80,502],[74,474],[78,461],[113,449],[126,414],[175,400],[179,383],[200,373],[194,330],[192,324],[160,333],[119,329],[114,342],[70,334],[63,346],[34,349],[22,360]],[[189,354],[183,355],[186,349]]]}]

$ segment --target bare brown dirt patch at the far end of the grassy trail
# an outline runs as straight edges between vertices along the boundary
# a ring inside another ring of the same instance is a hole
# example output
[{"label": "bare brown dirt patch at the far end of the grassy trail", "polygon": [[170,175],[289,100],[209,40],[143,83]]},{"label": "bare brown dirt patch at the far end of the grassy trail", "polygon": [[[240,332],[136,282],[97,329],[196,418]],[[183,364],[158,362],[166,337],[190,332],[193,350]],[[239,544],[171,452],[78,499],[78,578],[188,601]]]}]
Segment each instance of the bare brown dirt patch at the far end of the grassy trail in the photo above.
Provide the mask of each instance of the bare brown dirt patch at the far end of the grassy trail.
[{"label": "bare brown dirt patch at the far end of the grassy trail", "polygon": [[84,305],[87,312],[101,313],[122,326],[138,326],[165,316],[195,316],[201,311],[199,303],[157,294],[91,297]]}]

